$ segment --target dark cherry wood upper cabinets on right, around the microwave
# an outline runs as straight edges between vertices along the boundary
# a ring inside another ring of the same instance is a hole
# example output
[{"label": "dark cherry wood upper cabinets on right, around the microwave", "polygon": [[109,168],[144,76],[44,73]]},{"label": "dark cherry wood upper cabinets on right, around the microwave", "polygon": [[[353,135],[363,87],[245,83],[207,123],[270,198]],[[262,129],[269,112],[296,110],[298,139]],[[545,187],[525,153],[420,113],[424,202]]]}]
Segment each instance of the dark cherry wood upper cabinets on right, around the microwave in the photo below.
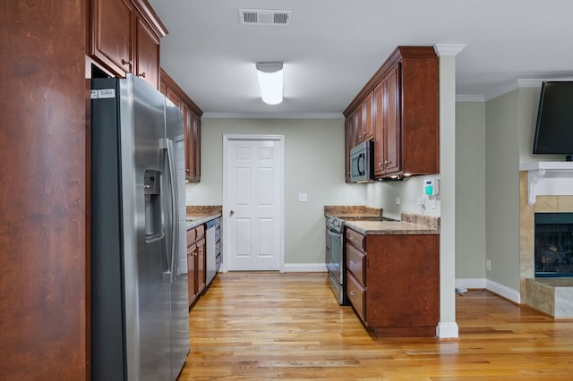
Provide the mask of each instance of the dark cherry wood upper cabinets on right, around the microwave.
[{"label": "dark cherry wood upper cabinets on right, around the microwave", "polygon": [[372,115],[377,179],[440,172],[439,91],[433,47],[397,47],[346,107],[351,120],[356,110],[363,110],[363,140],[368,140],[364,126]]}]

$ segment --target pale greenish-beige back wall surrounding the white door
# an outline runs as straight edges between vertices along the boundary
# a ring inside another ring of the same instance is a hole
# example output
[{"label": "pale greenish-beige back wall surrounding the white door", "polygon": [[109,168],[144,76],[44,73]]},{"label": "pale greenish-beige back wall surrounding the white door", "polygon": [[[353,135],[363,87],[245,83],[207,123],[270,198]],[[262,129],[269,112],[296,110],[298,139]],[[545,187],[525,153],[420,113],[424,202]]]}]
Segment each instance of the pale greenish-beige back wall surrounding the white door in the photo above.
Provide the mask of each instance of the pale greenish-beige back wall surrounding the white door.
[{"label": "pale greenish-beige back wall surrounding the white door", "polygon": [[[222,205],[223,134],[285,136],[285,263],[324,264],[324,205],[364,205],[365,187],[344,179],[344,120],[210,119],[201,127],[201,182],[190,205]],[[298,193],[308,194],[299,202]],[[288,268],[287,268],[288,271]]]}]

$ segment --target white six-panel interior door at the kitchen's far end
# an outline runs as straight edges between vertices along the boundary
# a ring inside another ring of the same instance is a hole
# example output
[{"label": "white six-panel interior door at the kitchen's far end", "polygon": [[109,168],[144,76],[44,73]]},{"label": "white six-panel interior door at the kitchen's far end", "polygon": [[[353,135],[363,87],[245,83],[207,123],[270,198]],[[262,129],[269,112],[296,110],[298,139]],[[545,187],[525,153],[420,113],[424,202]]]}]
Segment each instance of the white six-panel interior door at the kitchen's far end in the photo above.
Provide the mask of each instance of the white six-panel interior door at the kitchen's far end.
[{"label": "white six-panel interior door at the kitchen's far end", "polygon": [[284,137],[223,139],[223,270],[282,272]]}]

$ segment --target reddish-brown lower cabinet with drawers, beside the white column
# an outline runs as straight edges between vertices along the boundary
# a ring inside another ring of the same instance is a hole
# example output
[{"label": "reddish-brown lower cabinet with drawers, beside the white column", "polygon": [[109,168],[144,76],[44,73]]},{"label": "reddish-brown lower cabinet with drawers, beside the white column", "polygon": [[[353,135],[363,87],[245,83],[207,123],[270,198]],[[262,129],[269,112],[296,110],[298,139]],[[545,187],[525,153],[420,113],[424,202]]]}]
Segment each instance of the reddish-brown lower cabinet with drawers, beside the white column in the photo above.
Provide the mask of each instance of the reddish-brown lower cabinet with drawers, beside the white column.
[{"label": "reddish-brown lower cabinet with drawers, beside the white column", "polygon": [[439,244],[438,234],[363,236],[346,228],[346,292],[372,333],[436,334],[440,318]]}]

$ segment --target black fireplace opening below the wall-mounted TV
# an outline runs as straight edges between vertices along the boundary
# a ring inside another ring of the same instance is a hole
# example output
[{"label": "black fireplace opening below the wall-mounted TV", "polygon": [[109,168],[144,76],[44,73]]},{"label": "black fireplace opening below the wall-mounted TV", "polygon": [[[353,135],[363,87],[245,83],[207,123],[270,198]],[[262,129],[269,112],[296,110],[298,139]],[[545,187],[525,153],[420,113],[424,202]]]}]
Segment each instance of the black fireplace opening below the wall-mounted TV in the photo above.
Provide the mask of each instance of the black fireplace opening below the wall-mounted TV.
[{"label": "black fireplace opening below the wall-mounted TV", "polygon": [[535,213],[535,276],[573,276],[573,213]]}]

